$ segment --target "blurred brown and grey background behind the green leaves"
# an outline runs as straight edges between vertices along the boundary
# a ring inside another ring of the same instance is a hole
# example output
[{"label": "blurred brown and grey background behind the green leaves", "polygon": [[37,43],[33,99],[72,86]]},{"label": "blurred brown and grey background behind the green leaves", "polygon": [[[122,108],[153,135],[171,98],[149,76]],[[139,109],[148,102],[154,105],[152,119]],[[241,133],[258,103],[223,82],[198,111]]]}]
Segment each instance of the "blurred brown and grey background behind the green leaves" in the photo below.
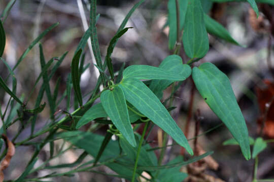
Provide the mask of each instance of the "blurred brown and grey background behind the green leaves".
[{"label": "blurred brown and grey background behind the green leaves", "polygon": [[[0,1],[0,12],[9,1]],[[124,16],[137,1],[126,0],[104,0],[98,1],[97,13],[100,14],[97,22],[97,33],[100,44],[102,58],[107,53],[109,41],[114,36]],[[86,17],[89,17],[89,5],[83,1]],[[210,15],[224,25],[231,33],[232,37],[245,47],[224,42],[216,37],[209,36],[210,51],[198,63],[212,62],[226,73],[231,81],[232,88],[245,116],[250,136],[258,136],[260,132],[265,139],[274,138],[274,71],[271,66],[273,60],[273,34],[274,34],[274,7],[270,5],[258,5],[260,17],[256,15],[247,3],[213,3]],[[150,0],[146,1],[131,16],[126,27],[133,27],[121,37],[118,41],[112,60],[114,71],[118,71],[123,63],[126,66],[132,64],[146,64],[158,66],[160,62],[168,55],[173,54],[168,50],[168,27],[167,20],[167,1]],[[42,31],[53,23],[60,24],[50,31],[43,38],[42,44],[46,60],[54,56],[61,56],[69,51],[62,65],[58,68],[55,76],[51,80],[51,87],[60,77],[60,95],[65,90],[65,81],[70,72],[70,64],[78,42],[80,41],[84,30],[81,16],[75,0],[17,0],[14,7],[5,21],[4,27],[7,35],[6,49],[4,58],[8,64],[13,67],[28,47]],[[180,51],[184,63],[187,57]],[[85,63],[91,63],[91,55],[86,49]],[[8,75],[8,70],[3,62],[0,62],[0,75],[4,78]],[[20,64],[15,74],[17,76],[17,95],[28,96],[34,85],[36,78],[40,73],[39,48],[38,45],[27,55]],[[94,67],[87,69],[81,77],[81,89],[83,94],[89,93],[96,84]],[[11,80],[9,81],[11,86]],[[34,106],[38,94],[38,87],[35,90],[28,105]],[[167,89],[164,97],[167,97],[171,89]],[[193,107],[190,110],[190,98],[193,95]],[[46,98],[44,98],[46,101]],[[87,98],[86,98],[87,99]],[[0,89],[1,109],[4,110],[9,100],[9,96]],[[199,133],[202,133],[218,124],[221,121],[210,110],[207,104],[193,89],[193,83],[190,79],[185,81],[174,97],[175,106],[173,117],[179,126],[186,130],[186,120],[190,120],[187,138],[194,136],[194,116],[199,109],[202,120],[200,121]],[[65,109],[66,103],[61,103],[59,109]],[[70,111],[73,111],[71,108]],[[191,117],[190,117],[191,116]],[[40,129],[49,118],[49,110],[46,108],[39,115],[36,130]],[[265,122],[264,128],[262,124]],[[30,127],[30,126],[29,126]],[[14,124],[9,130],[8,136],[14,136],[19,128],[19,124]],[[82,128],[82,129],[87,129]],[[105,131],[102,130],[102,131]],[[24,139],[29,135],[30,129],[25,129],[19,135],[19,139]],[[100,130],[97,131],[100,133]],[[186,132],[186,131],[185,131]],[[152,145],[157,146],[158,128],[154,127],[150,141]],[[42,136],[43,137],[43,136]],[[228,130],[221,126],[198,139],[198,145],[205,151],[213,150],[212,155],[214,164],[219,165],[217,170],[208,169],[209,175],[221,178],[224,181],[251,181],[253,161],[245,161],[239,147],[223,146],[222,143],[230,139]],[[37,139],[39,140],[39,139]],[[172,139],[168,139],[168,144]],[[192,143],[192,142],[190,142]],[[56,146],[58,147],[58,141]],[[274,148],[269,144],[267,150],[260,154],[260,163],[258,168],[259,178],[274,178]],[[167,148],[167,155],[164,159],[167,162],[175,156],[180,155],[181,149],[178,146],[172,149]],[[10,167],[5,170],[5,179],[17,178],[24,170],[31,154],[32,147],[24,146],[16,150],[15,156],[11,160]],[[60,158],[57,158],[51,164],[61,164],[74,162],[81,150],[70,150]],[[42,150],[36,165],[41,164],[49,156],[49,146]],[[59,169],[65,170],[65,169]],[[100,167],[100,170],[111,172],[106,167]],[[42,176],[51,173],[52,170],[39,171],[36,176]],[[60,177],[52,179],[54,181],[119,181],[120,179],[110,178],[100,174],[79,173],[73,177]]]}]

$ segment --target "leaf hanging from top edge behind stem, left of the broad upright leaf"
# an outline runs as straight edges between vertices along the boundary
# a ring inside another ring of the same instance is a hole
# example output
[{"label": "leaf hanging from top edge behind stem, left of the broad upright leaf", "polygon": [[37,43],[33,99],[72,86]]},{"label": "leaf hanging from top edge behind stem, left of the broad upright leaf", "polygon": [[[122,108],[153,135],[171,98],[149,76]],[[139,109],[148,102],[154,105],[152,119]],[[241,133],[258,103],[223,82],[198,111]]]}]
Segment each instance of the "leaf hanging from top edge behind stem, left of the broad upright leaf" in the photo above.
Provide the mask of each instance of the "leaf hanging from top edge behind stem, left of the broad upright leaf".
[{"label": "leaf hanging from top edge behind stem, left of the broad upright leaf", "polygon": [[[185,15],[187,10],[188,1],[178,1],[179,13],[180,13],[180,31],[182,30],[185,23]],[[168,9],[168,49],[173,50],[177,41],[177,9],[176,0],[169,0],[167,3]],[[181,35],[181,33],[180,33]]]}]

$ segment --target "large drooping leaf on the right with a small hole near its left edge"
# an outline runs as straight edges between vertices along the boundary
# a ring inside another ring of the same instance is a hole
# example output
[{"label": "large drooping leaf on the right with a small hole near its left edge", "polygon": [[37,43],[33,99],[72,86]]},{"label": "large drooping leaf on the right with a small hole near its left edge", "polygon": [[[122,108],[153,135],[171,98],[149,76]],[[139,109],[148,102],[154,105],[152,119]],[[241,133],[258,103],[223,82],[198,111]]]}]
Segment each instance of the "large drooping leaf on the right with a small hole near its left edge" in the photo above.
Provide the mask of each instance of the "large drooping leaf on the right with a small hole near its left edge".
[{"label": "large drooping leaf on the right with a small hole near its left edge", "polygon": [[194,67],[192,78],[200,95],[212,111],[224,122],[242,153],[250,159],[248,129],[239,108],[228,77],[212,63]]}]

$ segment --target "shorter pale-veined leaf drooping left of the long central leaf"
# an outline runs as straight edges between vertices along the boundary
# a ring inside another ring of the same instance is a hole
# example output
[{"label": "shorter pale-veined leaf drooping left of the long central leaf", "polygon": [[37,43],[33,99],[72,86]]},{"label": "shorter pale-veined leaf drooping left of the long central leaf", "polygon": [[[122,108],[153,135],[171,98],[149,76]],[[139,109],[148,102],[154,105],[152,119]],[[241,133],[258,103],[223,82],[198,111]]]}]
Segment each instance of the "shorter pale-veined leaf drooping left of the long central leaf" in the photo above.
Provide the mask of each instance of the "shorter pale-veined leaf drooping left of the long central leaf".
[{"label": "shorter pale-veined leaf drooping left of the long central leaf", "polygon": [[129,121],[126,100],[123,90],[114,86],[113,90],[104,91],[101,96],[101,103],[113,124],[123,134],[124,138],[133,147],[136,146],[133,130]]}]

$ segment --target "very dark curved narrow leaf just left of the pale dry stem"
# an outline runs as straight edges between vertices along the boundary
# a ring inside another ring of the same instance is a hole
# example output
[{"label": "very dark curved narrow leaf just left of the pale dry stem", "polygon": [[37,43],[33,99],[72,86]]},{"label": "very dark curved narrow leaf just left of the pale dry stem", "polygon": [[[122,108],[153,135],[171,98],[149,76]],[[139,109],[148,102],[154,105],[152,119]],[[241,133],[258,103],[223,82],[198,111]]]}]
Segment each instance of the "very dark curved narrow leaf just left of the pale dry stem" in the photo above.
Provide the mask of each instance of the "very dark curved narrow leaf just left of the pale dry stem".
[{"label": "very dark curved narrow leaf just left of the pale dry stem", "polygon": [[73,57],[72,61],[72,82],[73,82],[73,89],[77,96],[78,102],[80,106],[83,105],[81,88],[80,88],[80,73],[79,73],[79,60],[82,54],[82,50],[79,50],[76,55]]}]

